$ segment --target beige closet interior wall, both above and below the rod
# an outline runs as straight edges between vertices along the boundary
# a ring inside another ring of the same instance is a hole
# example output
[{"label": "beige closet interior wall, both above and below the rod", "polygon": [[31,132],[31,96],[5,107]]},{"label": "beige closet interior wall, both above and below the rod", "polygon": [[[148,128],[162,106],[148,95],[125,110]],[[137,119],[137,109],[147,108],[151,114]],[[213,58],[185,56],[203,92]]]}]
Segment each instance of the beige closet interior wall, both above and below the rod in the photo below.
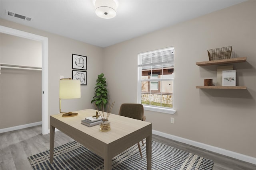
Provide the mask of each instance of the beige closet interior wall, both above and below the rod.
[{"label": "beige closet interior wall, both above and below the rod", "polygon": [[[42,67],[39,41],[0,33],[0,63]],[[42,71],[2,68],[0,129],[42,121]]]}]

